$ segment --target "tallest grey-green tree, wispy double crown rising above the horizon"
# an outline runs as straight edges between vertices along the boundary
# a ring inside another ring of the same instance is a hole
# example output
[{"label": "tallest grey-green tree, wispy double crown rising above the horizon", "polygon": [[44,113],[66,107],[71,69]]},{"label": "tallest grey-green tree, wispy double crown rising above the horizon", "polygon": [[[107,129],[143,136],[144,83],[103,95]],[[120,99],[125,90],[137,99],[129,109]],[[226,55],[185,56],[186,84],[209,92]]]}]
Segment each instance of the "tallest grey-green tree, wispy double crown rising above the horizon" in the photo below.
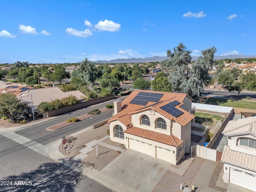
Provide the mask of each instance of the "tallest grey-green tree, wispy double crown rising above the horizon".
[{"label": "tallest grey-green tree, wispy double crown rising above the horizon", "polygon": [[169,59],[162,62],[162,66],[170,71],[168,80],[174,91],[186,93],[194,98],[200,96],[210,80],[208,71],[215,65],[215,52],[215,47],[202,50],[202,56],[192,63],[191,51],[182,43],[174,48],[173,52],[167,50]]}]

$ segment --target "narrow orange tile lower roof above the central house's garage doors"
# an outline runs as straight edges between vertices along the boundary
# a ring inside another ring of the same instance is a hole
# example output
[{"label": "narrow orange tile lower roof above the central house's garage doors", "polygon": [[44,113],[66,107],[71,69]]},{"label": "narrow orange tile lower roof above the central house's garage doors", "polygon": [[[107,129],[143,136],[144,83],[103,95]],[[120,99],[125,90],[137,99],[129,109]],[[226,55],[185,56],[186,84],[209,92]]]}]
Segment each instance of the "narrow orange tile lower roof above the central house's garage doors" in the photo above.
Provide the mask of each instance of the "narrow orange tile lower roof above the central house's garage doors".
[{"label": "narrow orange tile lower roof above the central house's garage doors", "polygon": [[162,134],[162,133],[158,133],[158,132],[154,132],[154,131],[150,131],[150,130],[146,130],[138,127],[132,127],[132,128],[126,129],[124,130],[124,133],[146,138],[149,140],[171,145],[174,147],[179,146],[183,142],[182,140],[180,140],[174,135],[166,135],[166,134]]}]

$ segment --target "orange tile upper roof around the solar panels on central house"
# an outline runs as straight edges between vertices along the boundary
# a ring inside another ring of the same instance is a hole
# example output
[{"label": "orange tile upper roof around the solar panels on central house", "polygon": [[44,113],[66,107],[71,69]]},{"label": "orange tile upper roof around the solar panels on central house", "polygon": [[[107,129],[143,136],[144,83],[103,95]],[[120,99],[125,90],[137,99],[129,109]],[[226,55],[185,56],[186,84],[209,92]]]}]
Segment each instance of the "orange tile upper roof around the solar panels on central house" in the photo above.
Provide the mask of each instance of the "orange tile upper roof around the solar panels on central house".
[{"label": "orange tile upper roof around the solar panels on central house", "polygon": [[[130,104],[130,101],[139,92],[154,92],[154,93],[160,93],[160,94],[164,94],[164,95],[159,100],[159,102],[157,102],[157,103],[148,102],[146,104],[146,106]],[[178,122],[179,124],[181,124],[182,126],[184,126],[194,118],[193,114],[190,114],[186,110],[183,110],[182,108],[179,107],[180,105],[182,105],[182,102],[186,96],[187,96],[187,94],[182,94],[182,93],[144,91],[144,90],[133,91],[125,100],[122,101],[122,110],[118,114],[115,114],[112,118],[110,118],[110,120],[108,122],[112,122],[114,120],[119,120],[124,125],[129,126],[131,124],[131,115],[132,114],[136,114],[138,112],[142,112],[142,111],[146,111],[146,110],[154,110],[154,111],[162,114],[166,118],[168,118],[170,120],[174,120],[174,121]],[[190,98],[190,99],[192,100],[192,98]],[[171,114],[165,112],[164,110],[162,110],[160,108],[161,106],[164,106],[174,100],[180,102],[180,104],[175,107],[183,112],[183,114],[181,114],[178,117],[174,117]]]}]

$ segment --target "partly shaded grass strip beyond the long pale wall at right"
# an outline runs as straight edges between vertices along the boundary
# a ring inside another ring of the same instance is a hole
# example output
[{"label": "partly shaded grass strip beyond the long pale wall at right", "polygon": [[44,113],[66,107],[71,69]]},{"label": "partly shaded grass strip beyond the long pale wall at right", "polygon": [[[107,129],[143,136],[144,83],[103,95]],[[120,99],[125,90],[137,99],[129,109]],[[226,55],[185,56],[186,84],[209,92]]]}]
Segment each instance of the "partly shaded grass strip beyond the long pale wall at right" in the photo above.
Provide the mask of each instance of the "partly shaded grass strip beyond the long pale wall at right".
[{"label": "partly shaded grass strip beyond the long pale wall at right", "polygon": [[232,100],[223,98],[208,98],[206,104],[210,105],[220,105],[226,107],[237,107],[244,109],[256,109],[256,102],[244,101],[244,100]]}]

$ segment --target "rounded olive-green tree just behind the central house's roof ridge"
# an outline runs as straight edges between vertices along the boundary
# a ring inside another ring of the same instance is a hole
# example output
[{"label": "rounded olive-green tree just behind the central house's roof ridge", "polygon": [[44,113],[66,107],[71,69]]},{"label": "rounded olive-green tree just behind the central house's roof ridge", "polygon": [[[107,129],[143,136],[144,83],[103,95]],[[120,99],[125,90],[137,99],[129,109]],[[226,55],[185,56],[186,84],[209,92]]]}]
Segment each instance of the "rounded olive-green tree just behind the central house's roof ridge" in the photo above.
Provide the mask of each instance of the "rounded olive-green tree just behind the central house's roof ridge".
[{"label": "rounded olive-green tree just behind the central house's roof ridge", "polygon": [[172,92],[172,85],[164,72],[156,75],[155,80],[151,81],[151,86],[153,91]]}]

